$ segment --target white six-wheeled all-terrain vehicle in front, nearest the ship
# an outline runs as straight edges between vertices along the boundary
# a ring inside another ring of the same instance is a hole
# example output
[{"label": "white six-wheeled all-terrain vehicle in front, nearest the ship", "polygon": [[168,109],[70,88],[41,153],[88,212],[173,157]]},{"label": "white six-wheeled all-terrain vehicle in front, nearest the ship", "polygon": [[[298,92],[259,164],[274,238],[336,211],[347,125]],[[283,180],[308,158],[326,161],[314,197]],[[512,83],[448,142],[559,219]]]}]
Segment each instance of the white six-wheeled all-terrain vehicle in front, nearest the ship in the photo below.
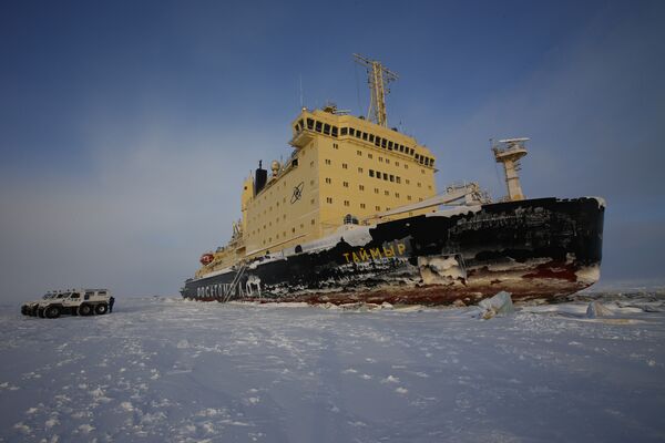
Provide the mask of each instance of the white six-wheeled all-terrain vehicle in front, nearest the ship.
[{"label": "white six-wheeled all-terrain vehicle in front, nearest the ship", "polygon": [[74,289],[62,291],[37,307],[41,318],[58,318],[63,313],[73,316],[104,315],[109,312],[111,293],[108,289]]}]

